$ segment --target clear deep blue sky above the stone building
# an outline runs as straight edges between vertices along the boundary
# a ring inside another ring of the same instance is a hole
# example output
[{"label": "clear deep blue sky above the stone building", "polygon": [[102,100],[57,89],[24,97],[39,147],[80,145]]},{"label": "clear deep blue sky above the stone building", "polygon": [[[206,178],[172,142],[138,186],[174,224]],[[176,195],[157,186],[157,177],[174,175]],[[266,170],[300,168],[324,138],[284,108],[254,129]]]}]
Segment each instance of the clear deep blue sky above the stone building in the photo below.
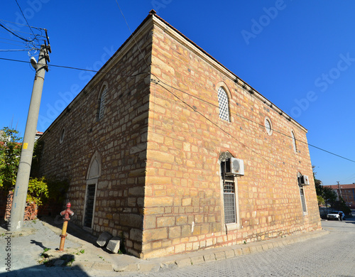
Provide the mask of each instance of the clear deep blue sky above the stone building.
[{"label": "clear deep blue sky above the stone building", "polygon": [[[305,126],[308,143],[355,161],[355,1],[117,1],[131,31],[155,9]],[[116,0],[17,2],[30,26],[48,30],[52,65],[98,70],[130,36]],[[14,24],[26,25],[15,0],[2,1],[0,19],[33,38],[28,27]],[[10,49],[26,49],[26,43],[0,27],[0,50]],[[27,51],[0,51],[0,58],[29,60]],[[0,60],[0,66],[0,128],[12,124],[23,136],[35,73],[27,63]],[[50,126],[91,77],[50,67],[38,131]],[[312,146],[310,155],[324,185],[355,183],[354,162]]]}]

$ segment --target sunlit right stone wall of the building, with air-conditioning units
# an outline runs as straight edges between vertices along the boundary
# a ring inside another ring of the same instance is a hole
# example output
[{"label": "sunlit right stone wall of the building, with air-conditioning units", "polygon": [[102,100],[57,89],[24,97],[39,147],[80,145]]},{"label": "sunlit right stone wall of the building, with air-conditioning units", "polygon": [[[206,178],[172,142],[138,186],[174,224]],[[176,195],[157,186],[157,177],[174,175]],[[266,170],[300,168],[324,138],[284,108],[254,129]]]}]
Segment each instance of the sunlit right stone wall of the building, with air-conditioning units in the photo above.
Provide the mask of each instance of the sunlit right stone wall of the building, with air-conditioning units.
[{"label": "sunlit right stone wall of the building, with air-conditioning units", "polygon": [[[158,26],[153,30],[152,51],[152,78],[161,82],[151,85],[142,256],[320,229],[307,144],[298,142],[295,153],[290,138],[293,131],[297,140],[307,142],[305,129]],[[219,119],[221,84],[229,89],[230,123]],[[266,116],[273,124],[271,136],[264,127]],[[218,163],[225,151],[245,165],[237,185],[240,228],[228,234],[221,215]],[[305,215],[297,172],[308,175],[312,183],[305,187]]]}]

